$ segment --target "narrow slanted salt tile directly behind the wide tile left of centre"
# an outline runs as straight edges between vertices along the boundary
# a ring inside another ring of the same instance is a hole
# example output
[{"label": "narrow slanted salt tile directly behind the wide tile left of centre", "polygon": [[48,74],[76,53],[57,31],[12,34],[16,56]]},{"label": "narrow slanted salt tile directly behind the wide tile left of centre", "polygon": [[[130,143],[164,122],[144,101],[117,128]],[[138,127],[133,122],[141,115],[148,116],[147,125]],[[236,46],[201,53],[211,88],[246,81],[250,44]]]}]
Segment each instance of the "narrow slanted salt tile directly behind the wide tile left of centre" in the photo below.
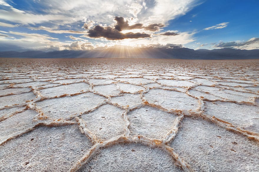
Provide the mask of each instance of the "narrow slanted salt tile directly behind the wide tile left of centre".
[{"label": "narrow slanted salt tile directly behind the wide tile left of centre", "polygon": [[76,83],[76,84],[69,84],[69,85],[61,85],[57,87],[45,88],[39,90],[40,94],[44,97],[55,97],[61,96],[64,94],[71,95],[80,92],[85,92],[89,90],[89,85],[87,83]]}]

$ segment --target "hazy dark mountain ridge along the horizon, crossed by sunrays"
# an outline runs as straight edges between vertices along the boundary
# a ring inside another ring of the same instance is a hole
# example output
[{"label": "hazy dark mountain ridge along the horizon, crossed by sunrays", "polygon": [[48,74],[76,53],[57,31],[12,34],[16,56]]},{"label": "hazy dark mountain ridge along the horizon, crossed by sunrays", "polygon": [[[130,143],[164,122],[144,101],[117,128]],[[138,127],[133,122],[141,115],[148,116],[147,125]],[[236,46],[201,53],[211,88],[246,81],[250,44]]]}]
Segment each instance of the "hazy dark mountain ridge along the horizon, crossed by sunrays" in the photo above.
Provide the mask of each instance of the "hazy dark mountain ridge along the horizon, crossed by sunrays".
[{"label": "hazy dark mountain ridge along the horizon, crossed by sunrays", "polygon": [[257,59],[259,49],[240,50],[232,48],[199,49],[189,48],[107,48],[102,50],[62,51],[1,51],[4,58],[166,58],[166,59]]}]

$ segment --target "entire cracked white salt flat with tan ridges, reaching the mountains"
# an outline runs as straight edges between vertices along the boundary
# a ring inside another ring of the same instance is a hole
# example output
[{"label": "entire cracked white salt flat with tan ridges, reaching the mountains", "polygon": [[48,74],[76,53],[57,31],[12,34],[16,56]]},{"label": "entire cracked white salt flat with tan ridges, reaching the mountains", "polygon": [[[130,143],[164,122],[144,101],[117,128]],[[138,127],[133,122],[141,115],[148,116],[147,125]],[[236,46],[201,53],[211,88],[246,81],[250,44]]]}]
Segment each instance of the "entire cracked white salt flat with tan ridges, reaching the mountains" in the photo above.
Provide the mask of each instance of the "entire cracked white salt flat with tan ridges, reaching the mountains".
[{"label": "entire cracked white salt flat with tan ridges, reaching the mountains", "polygon": [[0,171],[259,171],[259,60],[0,64]]}]

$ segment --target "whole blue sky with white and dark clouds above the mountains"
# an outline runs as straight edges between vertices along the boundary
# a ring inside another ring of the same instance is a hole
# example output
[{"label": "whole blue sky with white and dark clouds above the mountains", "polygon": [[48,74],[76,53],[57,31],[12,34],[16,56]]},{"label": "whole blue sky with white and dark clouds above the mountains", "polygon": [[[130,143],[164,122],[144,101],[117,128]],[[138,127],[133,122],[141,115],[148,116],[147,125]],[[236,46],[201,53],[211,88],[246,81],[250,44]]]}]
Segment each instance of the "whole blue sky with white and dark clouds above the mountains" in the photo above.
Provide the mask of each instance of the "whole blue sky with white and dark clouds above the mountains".
[{"label": "whole blue sky with white and dark clouds above the mountains", "polygon": [[258,0],[0,0],[0,51],[259,49]]}]

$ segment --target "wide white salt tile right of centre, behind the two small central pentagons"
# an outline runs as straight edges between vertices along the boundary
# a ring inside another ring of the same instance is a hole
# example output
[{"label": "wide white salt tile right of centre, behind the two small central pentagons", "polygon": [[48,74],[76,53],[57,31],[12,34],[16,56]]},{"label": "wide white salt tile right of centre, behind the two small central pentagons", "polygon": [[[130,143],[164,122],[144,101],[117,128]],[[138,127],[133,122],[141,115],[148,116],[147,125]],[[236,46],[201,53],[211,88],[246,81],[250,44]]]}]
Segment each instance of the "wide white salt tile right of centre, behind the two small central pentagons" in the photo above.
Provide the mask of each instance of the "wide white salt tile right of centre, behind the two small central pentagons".
[{"label": "wide white salt tile right of centre, behind the two small central pentagons", "polygon": [[149,103],[167,109],[196,110],[199,107],[197,99],[178,91],[151,89],[143,95]]}]

